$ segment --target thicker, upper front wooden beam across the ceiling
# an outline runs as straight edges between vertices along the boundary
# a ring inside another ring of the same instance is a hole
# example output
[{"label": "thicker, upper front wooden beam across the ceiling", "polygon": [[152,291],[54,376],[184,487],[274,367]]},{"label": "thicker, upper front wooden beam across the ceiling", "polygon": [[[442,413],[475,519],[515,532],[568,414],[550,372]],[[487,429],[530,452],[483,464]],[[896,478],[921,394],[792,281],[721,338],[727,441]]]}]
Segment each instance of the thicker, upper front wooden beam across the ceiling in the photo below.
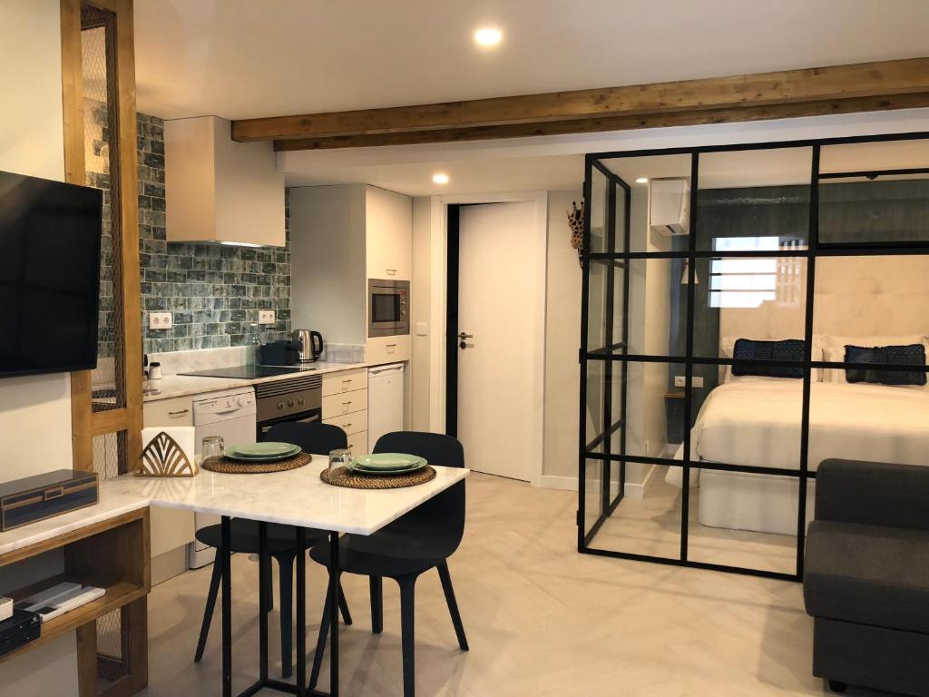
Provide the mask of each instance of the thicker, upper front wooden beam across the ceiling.
[{"label": "thicker, upper front wooden beam across the ceiling", "polygon": [[[478,134],[480,138],[516,138],[646,127],[622,124],[674,121],[671,114],[682,114],[682,123],[714,123],[700,121],[699,112],[714,112],[718,121],[729,110],[741,116],[765,108],[807,115],[800,106],[814,105],[812,109],[822,110],[831,103],[850,105],[856,99],[902,98],[927,92],[929,58],[886,60],[654,85],[245,119],[232,122],[232,139],[275,140],[280,145],[289,139],[319,143],[329,138],[346,144],[326,147],[353,147],[348,143],[356,142],[355,138],[380,145],[476,139]],[[621,126],[600,126],[608,120]],[[508,135],[498,135],[501,133]]]}]

